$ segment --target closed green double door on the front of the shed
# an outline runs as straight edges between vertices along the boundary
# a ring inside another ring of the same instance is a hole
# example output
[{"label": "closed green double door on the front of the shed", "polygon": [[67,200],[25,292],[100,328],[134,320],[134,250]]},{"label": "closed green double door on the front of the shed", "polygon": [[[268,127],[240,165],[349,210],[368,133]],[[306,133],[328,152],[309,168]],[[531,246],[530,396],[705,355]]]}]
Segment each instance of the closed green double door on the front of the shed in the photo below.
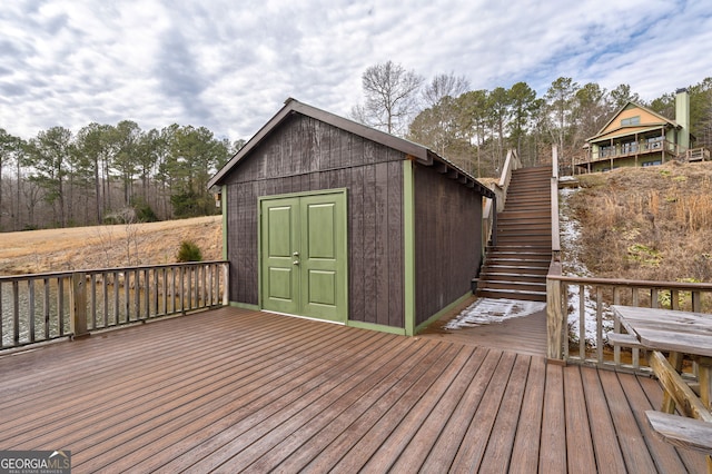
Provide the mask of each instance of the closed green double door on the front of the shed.
[{"label": "closed green double door on the front of the shed", "polygon": [[261,198],[264,309],[346,323],[346,191]]}]

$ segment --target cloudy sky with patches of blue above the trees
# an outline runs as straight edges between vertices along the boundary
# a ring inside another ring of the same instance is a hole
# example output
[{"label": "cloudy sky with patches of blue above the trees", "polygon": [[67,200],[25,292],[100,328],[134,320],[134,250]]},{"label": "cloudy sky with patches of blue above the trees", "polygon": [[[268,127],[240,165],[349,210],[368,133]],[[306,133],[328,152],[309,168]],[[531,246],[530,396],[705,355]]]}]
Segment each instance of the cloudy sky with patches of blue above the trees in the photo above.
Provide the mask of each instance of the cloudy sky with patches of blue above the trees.
[{"label": "cloudy sky with patches of blue above the trees", "polygon": [[553,80],[650,100],[712,76],[708,0],[7,0],[0,128],[123,119],[251,137],[288,97],[346,116],[392,60],[472,89]]}]

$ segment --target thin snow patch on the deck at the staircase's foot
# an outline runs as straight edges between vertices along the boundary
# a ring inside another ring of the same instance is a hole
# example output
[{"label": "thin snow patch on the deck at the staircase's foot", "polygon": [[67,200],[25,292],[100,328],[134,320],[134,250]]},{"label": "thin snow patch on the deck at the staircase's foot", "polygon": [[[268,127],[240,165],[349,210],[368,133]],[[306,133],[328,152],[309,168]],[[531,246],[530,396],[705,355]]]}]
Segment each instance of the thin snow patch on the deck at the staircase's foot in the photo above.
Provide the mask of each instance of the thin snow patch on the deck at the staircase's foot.
[{"label": "thin snow patch on the deck at the staircase's foot", "polygon": [[445,329],[463,329],[504,319],[528,316],[546,308],[546,303],[516,299],[479,298],[445,325]]}]

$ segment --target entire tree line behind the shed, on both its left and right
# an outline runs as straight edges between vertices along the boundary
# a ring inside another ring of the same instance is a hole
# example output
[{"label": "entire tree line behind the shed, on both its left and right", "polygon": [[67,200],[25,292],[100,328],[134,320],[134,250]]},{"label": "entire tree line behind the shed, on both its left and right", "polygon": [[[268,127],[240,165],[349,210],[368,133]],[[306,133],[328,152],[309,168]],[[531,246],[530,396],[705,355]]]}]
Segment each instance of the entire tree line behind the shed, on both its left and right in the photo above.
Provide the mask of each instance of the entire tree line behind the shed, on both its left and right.
[{"label": "entire tree line behind the shed, on both its left and right", "polygon": [[[670,118],[675,93],[650,102],[629,85],[606,90],[562,77],[537,97],[526,82],[471,90],[464,77],[429,82],[387,61],[362,76],[355,120],[427,146],[476,177],[496,177],[506,150],[526,166],[547,162],[551,147],[582,158],[586,138],[633,101]],[[690,86],[691,131],[712,147],[712,78]],[[22,139],[0,128],[0,231],[149,221],[219,211],[207,189],[212,174],[245,140],[218,139],[205,127],[142,130],[123,120],[73,134],[52,127]]]}]

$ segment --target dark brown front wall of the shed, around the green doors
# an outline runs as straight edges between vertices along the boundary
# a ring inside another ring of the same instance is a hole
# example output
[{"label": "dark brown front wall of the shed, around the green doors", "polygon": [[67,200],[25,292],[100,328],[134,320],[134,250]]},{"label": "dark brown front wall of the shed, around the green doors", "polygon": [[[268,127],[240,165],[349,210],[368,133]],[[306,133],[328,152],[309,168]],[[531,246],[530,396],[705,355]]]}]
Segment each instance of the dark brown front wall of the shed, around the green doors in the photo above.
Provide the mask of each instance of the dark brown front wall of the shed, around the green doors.
[{"label": "dark brown front wall of the shed, around the green doors", "polygon": [[257,198],[346,188],[352,320],[404,327],[402,152],[293,115],[226,178],[230,300],[257,305]]}]

